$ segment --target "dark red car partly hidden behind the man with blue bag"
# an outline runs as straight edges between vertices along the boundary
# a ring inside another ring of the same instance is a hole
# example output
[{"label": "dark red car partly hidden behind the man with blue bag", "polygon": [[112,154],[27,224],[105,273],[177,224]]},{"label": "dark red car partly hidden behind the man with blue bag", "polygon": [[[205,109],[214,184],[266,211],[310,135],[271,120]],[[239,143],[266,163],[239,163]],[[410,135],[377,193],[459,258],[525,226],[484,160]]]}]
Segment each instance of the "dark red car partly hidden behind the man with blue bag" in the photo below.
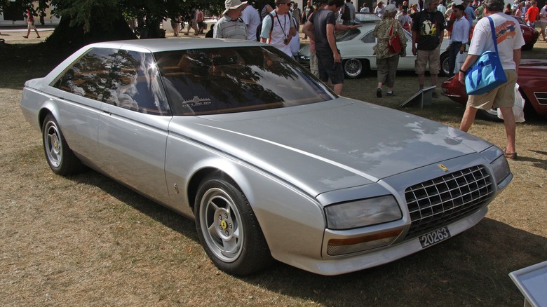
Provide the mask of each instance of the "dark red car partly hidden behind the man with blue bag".
[{"label": "dark red car partly hidden behind the man with blue bag", "polygon": [[[466,104],[466,88],[457,77],[458,74],[443,82],[443,93],[455,102]],[[525,117],[534,113],[547,117],[547,61],[521,60],[517,83],[526,101]],[[486,118],[498,119],[496,110],[479,110],[479,113]]]}]

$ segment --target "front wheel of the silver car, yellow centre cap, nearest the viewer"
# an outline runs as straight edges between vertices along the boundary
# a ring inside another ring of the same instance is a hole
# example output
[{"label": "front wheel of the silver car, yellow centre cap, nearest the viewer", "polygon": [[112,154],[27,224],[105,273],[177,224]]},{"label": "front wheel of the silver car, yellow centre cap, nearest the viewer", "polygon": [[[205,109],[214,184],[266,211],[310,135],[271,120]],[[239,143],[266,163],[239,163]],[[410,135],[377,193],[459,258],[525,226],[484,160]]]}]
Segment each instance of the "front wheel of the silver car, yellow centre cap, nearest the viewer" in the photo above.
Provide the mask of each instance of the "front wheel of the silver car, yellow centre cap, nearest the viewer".
[{"label": "front wheel of the silver car, yellow centre cap, nearest the viewer", "polygon": [[217,268],[242,276],[271,264],[255,212],[234,182],[219,175],[203,179],[194,212],[201,245]]}]

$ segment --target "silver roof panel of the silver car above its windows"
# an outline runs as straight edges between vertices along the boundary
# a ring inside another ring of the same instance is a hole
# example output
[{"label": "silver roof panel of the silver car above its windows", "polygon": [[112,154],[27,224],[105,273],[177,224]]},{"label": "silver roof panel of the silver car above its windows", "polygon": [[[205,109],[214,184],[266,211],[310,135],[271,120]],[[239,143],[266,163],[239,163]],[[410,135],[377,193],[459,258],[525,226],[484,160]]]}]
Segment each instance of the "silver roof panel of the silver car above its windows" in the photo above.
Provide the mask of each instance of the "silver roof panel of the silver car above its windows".
[{"label": "silver roof panel of the silver car above its windows", "polygon": [[121,49],[146,49],[152,53],[170,50],[191,50],[202,48],[231,48],[266,46],[257,41],[243,41],[240,39],[133,39],[128,41],[106,41],[93,43],[87,48],[121,48]]}]

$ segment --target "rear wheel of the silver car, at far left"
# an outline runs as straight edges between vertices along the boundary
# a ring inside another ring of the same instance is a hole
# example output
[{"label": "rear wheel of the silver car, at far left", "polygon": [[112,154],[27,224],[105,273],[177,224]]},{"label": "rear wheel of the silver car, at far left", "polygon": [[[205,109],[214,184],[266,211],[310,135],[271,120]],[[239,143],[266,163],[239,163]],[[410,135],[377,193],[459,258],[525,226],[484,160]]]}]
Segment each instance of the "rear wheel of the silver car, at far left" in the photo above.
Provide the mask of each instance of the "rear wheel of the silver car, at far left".
[{"label": "rear wheel of the silver car, at far left", "polygon": [[46,160],[55,174],[67,176],[81,170],[81,162],[69,148],[59,124],[51,114],[42,123],[42,140]]}]

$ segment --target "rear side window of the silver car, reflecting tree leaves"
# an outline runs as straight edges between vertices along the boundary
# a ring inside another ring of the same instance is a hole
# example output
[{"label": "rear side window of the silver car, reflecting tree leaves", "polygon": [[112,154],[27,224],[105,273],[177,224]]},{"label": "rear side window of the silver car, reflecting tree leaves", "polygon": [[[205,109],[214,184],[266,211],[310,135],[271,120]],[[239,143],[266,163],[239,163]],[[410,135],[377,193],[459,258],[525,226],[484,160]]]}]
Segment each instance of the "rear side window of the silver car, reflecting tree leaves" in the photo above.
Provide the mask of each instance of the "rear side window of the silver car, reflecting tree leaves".
[{"label": "rear side window of the silver car, reflecting tree leaves", "polygon": [[94,48],[74,62],[53,83],[53,87],[93,100],[103,100],[104,87],[108,82],[109,67],[116,57],[116,50]]}]

